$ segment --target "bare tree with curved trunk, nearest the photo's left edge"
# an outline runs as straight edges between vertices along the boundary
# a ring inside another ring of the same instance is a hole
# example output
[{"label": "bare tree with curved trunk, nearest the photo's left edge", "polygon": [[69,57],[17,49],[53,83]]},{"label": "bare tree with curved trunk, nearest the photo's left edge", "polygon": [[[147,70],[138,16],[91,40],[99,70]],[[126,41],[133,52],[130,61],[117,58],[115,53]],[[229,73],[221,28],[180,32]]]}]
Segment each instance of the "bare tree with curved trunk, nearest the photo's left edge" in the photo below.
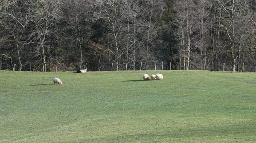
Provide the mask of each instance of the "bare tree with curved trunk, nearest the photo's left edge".
[{"label": "bare tree with curved trunk, nearest the photo's left edge", "polygon": [[31,36],[26,36],[27,25],[32,20],[26,17],[28,13],[27,7],[29,6],[29,1],[25,1],[24,3],[20,3],[19,0],[9,1],[6,3],[6,11],[3,13],[2,18],[6,20],[6,23],[2,23],[5,30],[8,31],[9,34],[6,42],[10,42],[12,46],[10,48],[15,47],[15,51],[17,52],[18,61],[18,70],[21,71],[22,64],[22,53],[24,52],[24,47],[26,45],[31,44]]}]

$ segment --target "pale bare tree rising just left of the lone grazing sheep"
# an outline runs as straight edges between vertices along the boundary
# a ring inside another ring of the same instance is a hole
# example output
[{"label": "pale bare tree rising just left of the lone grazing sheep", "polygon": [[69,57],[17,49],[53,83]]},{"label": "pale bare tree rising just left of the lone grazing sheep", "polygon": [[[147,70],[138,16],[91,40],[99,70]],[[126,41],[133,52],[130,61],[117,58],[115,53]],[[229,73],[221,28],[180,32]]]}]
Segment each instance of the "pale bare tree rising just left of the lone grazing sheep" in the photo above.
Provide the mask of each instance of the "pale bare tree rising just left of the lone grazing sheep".
[{"label": "pale bare tree rising just left of the lone grazing sheep", "polygon": [[[33,40],[35,42],[35,57],[43,65],[43,71],[47,71],[47,52],[50,51],[52,46],[50,42],[50,37],[52,36],[52,31],[56,23],[58,23],[58,17],[56,17],[58,11],[59,0],[52,1],[31,1],[30,8],[33,11],[28,15],[32,20],[32,34]],[[49,53],[48,53],[49,54]],[[48,57],[49,59],[49,57]]]}]

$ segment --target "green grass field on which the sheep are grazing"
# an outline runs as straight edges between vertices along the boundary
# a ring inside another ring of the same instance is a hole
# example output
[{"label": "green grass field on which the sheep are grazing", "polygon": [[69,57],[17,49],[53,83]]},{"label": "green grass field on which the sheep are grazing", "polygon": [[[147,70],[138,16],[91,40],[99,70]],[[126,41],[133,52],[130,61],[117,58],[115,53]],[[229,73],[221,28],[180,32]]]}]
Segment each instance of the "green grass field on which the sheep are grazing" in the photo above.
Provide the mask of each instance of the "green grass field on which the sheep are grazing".
[{"label": "green grass field on which the sheep are grazing", "polygon": [[256,73],[0,71],[0,143],[20,142],[255,143]]}]

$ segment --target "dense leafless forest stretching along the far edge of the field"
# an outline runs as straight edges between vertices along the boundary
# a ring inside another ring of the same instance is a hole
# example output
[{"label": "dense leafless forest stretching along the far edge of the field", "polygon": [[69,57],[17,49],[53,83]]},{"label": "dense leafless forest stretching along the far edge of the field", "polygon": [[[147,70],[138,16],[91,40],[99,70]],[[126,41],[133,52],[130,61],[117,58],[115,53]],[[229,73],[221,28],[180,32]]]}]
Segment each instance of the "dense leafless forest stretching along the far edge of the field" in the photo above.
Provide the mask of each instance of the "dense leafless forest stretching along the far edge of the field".
[{"label": "dense leafless forest stretching along the far edge of the field", "polygon": [[256,0],[1,0],[0,70],[256,71]]}]

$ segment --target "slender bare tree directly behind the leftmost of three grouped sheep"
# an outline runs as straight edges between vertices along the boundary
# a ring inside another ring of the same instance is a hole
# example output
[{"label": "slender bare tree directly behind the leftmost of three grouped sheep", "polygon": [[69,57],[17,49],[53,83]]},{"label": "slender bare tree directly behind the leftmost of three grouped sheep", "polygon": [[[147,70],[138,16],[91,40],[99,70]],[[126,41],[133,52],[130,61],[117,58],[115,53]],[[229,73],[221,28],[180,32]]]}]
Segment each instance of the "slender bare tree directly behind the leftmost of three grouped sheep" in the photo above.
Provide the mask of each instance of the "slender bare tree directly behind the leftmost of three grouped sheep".
[{"label": "slender bare tree directly behind the leftmost of three grouped sheep", "polygon": [[159,39],[158,32],[160,31],[160,26],[157,25],[163,16],[163,12],[166,11],[164,0],[145,0],[142,3],[142,11],[140,15],[141,28],[140,31],[142,36],[142,46],[141,54],[143,54],[143,60],[145,62],[145,69],[148,70],[151,64],[149,62],[155,63],[156,61],[156,49],[157,40]]}]

